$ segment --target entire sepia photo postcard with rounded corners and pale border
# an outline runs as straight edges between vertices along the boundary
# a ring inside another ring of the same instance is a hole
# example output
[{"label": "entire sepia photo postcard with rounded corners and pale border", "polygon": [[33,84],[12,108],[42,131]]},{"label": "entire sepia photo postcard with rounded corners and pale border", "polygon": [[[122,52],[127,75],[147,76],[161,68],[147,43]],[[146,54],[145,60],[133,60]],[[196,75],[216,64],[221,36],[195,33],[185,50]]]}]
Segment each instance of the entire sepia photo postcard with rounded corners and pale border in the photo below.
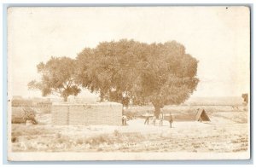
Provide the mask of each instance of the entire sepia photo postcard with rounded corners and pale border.
[{"label": "entire sepia photo postcard with rounded corners and pale border", "polygon": [[250,159],[247,6],[9,7],[8,160]]}]

